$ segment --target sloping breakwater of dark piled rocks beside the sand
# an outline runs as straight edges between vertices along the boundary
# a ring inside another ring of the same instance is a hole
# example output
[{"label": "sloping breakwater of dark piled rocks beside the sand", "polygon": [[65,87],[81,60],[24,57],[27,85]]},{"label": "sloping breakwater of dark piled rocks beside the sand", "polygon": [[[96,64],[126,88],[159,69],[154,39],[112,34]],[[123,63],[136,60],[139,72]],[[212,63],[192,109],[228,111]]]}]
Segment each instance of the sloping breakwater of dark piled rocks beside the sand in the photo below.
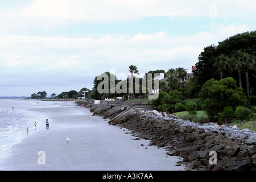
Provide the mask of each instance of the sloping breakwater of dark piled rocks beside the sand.
[{"label": "sloping breakwater of dark piled rocks beside the sand", "polygon": [[[107,110],[97,115],[104,115]],[[249,129],[194,123],[158,111],[134,111],[113,125],[131,130],[134,137],[149,139],[150,145],[165,148],[167,155],[181,156],[190,169],[256,170],[256,133]],[[217,154],[217,163],[210,164],[211,151]]]}]

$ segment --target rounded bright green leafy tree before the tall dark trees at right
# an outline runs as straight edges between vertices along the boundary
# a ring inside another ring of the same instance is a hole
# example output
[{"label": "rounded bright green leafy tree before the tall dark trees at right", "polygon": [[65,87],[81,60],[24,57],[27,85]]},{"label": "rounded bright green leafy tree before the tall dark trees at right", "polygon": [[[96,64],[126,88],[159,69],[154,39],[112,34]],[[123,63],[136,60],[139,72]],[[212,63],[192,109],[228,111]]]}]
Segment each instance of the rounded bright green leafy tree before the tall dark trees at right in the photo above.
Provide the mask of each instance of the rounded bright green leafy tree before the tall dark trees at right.
[{"label": "rounded bright green leafy tree before the tall dark trees at right", "polygon": [[202,86],[200,97],[203,100],[202,107],[211,121],[227,106],[235,108],[246,104],[243,90],[237,87],[236,81],[231,77],[219,81],[214,79],[206,81]]}]

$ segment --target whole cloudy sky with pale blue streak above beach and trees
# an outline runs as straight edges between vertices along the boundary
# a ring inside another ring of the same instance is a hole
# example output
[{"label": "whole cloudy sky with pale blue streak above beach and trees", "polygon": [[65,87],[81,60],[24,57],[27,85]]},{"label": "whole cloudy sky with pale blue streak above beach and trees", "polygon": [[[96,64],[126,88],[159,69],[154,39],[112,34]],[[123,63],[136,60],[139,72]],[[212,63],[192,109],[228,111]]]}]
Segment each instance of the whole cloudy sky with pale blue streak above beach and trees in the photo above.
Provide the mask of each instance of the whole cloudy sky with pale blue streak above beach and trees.
[{"label": "whole cloudy sky with pale blue streak above beach and trees", "polygon": [[191,69],[256,28],[254,0],[0,0],[0,96],[93,88],[103,72]]}]

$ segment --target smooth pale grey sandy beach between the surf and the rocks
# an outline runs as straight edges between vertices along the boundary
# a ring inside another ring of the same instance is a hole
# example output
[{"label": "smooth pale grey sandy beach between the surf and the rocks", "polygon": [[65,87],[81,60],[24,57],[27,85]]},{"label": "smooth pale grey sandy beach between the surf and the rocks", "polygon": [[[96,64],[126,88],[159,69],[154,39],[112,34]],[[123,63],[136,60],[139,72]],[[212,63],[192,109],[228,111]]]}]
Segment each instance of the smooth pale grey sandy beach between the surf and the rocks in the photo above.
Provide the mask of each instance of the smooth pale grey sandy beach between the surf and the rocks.
[{"label": "smooth pale grey sandy beach between the surf and the rocks", "polygon": [[[13,146],[1,170],[125,170],[179,171],[180,159],[166,150],[147,146],[149,140],[134,140],[127,129],[111,126],[107,119],[92,116],[89,109],[74,105],[48,105],[30,109],[47,115],[49,129],[42,125]],[[45,122],[45,121],[43,121]],[[30,130],[34,130],[33,126]],[[125,130],[125,131],[124,131]],[[67,139],[70,138],[69,143]],[[45,164],[39,151],[45,154]],[[42,160],[41,160],[42,159]]]}]

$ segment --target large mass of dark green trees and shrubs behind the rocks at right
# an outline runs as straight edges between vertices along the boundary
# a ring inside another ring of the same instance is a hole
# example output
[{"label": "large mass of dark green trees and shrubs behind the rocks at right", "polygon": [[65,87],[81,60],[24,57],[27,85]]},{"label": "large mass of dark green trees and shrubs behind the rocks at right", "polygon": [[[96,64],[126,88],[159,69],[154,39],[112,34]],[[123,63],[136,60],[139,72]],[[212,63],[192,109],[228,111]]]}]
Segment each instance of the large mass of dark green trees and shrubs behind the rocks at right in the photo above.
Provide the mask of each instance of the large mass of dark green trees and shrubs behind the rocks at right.
[{"label": "large mass of dark green trees and shrubs behind the rocks at right", "polygon": [[252,118],[256,105],[255,59],[255,31],[231,36],[218,46],[207,46],[198,56],[194,76],[171,91],[171,69],[170,92],[162,89],[153,104],[171,113],[185,110],[186,103],[193,100],[197,109],[206,110],[210,121]]}]

